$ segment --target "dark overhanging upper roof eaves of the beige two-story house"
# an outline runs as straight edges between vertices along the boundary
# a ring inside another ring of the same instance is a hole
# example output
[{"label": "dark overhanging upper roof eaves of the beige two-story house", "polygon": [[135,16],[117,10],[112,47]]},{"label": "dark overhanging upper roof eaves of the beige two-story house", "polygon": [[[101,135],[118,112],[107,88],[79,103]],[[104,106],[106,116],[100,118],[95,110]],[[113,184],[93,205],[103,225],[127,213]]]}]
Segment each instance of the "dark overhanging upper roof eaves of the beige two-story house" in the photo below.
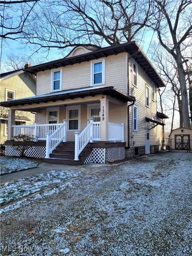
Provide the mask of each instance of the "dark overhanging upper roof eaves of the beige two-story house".
[{"label": "dark overhanging upper roof eaves of the beige two-story house", "polygon": [[117,55],[118,53],[128,52],[130,55],[134,54],[134,59],[143,68],[147,75],[153,80],[157,87],[165,87],[163,79],[160,77],[154,66],[151,64],[145,53],[142,51],[136,41],[127,42],[124,44],[117,44],[107,47],[102,47],[92,52],[80,54],[72,57],[65,57],[59,60],[54,60],[26,68],[25,71],[31,74],[36,74],[39,71],[45,71],[52,68],[65,67],[76,63],[90,61],[98,58],[107,57],[109,55]]}]

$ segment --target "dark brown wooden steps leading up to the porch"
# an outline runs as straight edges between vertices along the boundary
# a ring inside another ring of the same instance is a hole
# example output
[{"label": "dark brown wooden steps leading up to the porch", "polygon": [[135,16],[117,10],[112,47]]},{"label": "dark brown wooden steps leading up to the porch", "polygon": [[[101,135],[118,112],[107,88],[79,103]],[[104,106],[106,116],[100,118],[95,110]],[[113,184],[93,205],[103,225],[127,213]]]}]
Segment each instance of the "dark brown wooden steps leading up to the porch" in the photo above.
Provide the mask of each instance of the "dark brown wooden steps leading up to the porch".
[{"label": "dark brown wooden steps leading up to the porch", "polygon": [[81,165],[91,153],[90,147],[85,147],[79,154],[79,160],[75,158],[75,142],[61,142],[49,155],[50,158],[44,158],[44,162],[58,164]]}]

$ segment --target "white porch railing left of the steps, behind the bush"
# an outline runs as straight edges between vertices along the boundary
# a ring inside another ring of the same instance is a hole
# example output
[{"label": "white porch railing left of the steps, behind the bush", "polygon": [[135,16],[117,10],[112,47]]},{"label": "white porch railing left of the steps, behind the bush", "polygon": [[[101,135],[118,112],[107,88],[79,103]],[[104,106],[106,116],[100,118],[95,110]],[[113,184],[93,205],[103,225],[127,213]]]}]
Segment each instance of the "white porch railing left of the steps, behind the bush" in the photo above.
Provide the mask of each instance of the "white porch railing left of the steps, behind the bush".
[{"label": "white porch railing left of the steps, behind the bush", "polygon": [[12,125],[13,136],[19,134],[33,135],[35,141],[46,140],[46,133],[53,134],[63,124],[33,124],[33,125]]}]

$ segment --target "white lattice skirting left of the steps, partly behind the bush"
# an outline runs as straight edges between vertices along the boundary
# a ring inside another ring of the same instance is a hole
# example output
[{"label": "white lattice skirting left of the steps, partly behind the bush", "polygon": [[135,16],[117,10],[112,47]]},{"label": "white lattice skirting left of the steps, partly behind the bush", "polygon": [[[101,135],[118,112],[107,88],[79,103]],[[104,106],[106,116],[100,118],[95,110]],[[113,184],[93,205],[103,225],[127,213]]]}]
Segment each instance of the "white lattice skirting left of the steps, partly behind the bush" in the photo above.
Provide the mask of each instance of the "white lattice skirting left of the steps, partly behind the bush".
[{"label": "white lattice skirting left of the steps, partly behind the bush", "polygon": [[[45,158],[46,147],[44,146],[33,146],[29,148],[25,155],[28,157],[34,158]],[[7,145],[5,146],[5,155],[6,156],[19,156],[19,151],[16,149],[16,146]]]}]

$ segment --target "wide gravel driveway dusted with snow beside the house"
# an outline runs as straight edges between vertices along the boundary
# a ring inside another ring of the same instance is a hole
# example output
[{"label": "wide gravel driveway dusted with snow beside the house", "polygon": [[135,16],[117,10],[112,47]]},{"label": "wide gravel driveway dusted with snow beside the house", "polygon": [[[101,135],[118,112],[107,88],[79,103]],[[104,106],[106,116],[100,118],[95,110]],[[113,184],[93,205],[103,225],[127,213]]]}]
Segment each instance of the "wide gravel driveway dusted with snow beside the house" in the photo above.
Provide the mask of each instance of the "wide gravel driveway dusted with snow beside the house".
[{"label": "wide gravel driveway dusted with snow beside the house", "polygon": [[191,172],[191,153],[166,153],[23,200],[1,217],[1,253],[192,255]]}]

